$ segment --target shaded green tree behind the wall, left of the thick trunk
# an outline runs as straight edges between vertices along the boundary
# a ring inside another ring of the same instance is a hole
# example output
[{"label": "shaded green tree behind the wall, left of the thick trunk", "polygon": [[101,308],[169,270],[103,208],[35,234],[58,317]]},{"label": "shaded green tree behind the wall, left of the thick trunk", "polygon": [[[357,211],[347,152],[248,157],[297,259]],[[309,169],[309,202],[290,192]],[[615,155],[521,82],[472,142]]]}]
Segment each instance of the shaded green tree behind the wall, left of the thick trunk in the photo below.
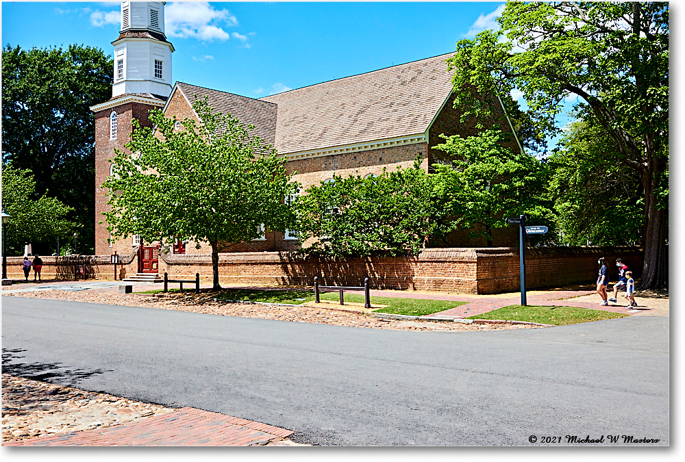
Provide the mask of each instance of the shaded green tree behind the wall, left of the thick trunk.
[{"label": "shaded green tree behind the wall, left of the thick trunk", "polygon": [[640,242],[643,197],[638,173],[621,162],[606,131],[588,120],[567,129],[549,165],[549,183],[562,242],[572,245]]}]

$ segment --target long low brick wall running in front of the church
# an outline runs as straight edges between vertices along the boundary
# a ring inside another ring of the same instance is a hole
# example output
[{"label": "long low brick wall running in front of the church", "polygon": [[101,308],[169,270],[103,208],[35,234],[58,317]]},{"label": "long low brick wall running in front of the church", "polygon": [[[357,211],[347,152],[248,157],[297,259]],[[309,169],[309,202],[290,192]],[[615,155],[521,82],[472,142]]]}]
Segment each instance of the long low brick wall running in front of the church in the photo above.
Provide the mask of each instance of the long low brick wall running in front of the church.
[{"label": "long low brick wall running in front of the church", "polygon": [[[621,256],[639,278],[643,253],[634,247],[544,247],[526,250],[526,285],[529,289],[560,287],[597,280],[597,259],[606,257],[610,280],[618,279],[614,260]],[[86,257],[84,257],[86,258]],[[109,255],[87,257],[89,274],[112,279]],[[43,278],[71,279],[65,257],[42,257]],[[60,260],[61,259],[61,260]],[[23,279],[21,257],[8,257],[8,276]],[[127,277],[137,271],[135,254],[121,255]],[[210,255],[160,253],[160,274],[190,279],[199,272],[212,280]],[[60,275],[61,274],[61,275]],[[71,273],[73,274],[73,273]],[[438,290],[495,294],[519,290],[518,248],[428,248],[418,257],[366,257],[356,259],[303,258],[286,252],[223,253],[219,255],[219,279],[227,285],[313,285],[318,276],[325,285],[362,285],[369,277],[375,288]],[[33,272],[30,279],[33,279]]]}]

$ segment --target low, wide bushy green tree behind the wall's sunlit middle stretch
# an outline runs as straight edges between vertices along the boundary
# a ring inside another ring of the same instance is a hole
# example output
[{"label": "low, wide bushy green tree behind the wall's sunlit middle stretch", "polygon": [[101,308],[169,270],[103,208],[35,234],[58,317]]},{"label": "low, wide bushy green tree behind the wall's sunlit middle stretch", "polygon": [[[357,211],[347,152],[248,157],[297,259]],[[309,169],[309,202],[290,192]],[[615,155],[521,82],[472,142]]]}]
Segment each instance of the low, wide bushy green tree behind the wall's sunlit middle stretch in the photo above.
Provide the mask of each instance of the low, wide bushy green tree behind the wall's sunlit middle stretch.
[{"label": "low, wide bushy green tree behind the wall's sunlit middle stretch", "polygon": [[334,177],[314,185],[297,203],[304,251],[341,257],[416,255],[434,235],[453,229],[449,210],[436,196],[436,177],[420,166],[373,178]]}]

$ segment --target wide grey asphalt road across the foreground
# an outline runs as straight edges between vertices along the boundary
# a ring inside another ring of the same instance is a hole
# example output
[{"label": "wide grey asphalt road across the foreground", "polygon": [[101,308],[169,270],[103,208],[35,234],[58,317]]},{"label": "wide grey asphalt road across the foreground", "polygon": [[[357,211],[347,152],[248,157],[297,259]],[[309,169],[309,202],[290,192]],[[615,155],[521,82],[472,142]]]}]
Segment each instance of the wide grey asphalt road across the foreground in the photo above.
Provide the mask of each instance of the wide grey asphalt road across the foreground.
[{"label": "wide grey asphalt road across the foreground", "polygon": [[669,444],[667,317],[440,333],[2,303],[3,372],[257,420],[299,442]]}]

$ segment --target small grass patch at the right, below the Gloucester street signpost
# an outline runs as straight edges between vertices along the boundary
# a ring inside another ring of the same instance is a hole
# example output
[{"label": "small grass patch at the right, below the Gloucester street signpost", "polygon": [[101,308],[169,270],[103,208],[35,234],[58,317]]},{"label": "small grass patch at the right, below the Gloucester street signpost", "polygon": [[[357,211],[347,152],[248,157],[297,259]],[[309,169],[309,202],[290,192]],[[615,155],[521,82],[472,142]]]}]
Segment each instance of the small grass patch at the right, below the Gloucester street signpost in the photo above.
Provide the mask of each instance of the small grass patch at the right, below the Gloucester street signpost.
[{"label": "small grass patch at the right, below the Gloucester street signpost", "polygon": [[539,322],[540,324],[577,324],[578,322],[623,318],[627,314],[576,307],[522,307],[510,305],[466,319],[502,319],[507,321]]}]

